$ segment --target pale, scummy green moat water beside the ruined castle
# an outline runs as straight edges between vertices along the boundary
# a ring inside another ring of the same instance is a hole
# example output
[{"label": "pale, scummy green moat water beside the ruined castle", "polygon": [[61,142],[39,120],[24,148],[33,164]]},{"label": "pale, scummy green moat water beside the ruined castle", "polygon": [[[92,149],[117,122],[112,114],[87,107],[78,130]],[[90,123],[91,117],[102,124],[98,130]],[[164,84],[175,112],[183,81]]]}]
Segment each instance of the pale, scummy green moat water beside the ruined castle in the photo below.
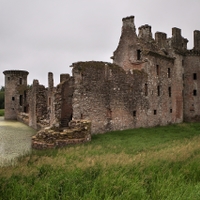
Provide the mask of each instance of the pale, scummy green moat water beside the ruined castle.
[{"label": "pale, scummy green moat water beside the ruined castle", "polygon": [[17,121],[0,117],[0,166],[14,163],[14,159],[31,151],[31,136],[36,131]]}]

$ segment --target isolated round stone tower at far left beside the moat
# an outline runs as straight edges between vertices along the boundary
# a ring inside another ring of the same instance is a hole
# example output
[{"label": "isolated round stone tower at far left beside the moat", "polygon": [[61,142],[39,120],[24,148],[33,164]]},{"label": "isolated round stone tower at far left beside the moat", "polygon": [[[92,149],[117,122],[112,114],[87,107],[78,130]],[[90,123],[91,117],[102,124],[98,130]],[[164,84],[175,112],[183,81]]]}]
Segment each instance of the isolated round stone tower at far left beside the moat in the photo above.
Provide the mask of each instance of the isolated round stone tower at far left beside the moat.
[{"label": "isolated round stone tower at far left beside the moat", "polygon": [[26,110],[26,90],[28,72],[6,70],[5,75],[5,119],[17,119],[18,112]]}]

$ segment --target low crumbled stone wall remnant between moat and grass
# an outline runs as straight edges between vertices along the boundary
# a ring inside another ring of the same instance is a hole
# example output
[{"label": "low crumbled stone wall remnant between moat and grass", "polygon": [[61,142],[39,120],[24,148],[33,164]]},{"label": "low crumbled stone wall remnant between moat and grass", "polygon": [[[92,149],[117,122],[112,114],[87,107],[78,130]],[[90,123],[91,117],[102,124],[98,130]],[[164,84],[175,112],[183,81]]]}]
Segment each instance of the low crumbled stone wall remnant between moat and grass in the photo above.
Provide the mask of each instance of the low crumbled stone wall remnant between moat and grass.
[{"label": "low crumbled stone wall remnant between moat and grass", "polygon": [[32,148],[53,149],[89,141],[91,141],[91,122],[72,120],[69,122],[68,128],[47,127],[38,131],[32,137]]}]

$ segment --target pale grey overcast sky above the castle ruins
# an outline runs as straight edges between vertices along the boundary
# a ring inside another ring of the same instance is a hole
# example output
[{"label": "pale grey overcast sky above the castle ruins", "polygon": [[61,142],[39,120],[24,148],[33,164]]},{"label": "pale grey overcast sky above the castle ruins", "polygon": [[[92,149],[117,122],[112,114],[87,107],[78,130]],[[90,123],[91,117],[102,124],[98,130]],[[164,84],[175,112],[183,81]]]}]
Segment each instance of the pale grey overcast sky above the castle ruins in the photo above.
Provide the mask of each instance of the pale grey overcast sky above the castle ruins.
[{"label": "pale grey overcast sky above the castle ruins", "polygon": [[116,49],[122,18],[135,16],[135,25],[149,24],[152,33],[171,37],[171,28],[193,48],[193,31],[200,30],[200,0],[0,0],[0,86],[4,70],[29,71],[47,86],[77,61],[107,61]]}]

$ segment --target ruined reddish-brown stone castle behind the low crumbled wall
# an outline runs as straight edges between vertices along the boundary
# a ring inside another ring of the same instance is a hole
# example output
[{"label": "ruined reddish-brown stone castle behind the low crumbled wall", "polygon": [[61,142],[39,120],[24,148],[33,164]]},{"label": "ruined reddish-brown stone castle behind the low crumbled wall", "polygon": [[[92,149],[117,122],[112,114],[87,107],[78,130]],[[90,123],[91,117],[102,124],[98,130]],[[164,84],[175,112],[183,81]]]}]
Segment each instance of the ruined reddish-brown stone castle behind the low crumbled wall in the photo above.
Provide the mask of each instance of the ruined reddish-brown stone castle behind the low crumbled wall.
[{"label": "ruined reddish-brown stone castle behind the low crumbled wall", "polygon": [[179,28],[153,38],[149,25],[136,33],[134,16],[122,22],[113,63],[73,63],[56,87],[50,72],[45,88],[38,80],[28,87],[27,71],[4,71],[5,119],[37,130],[91,121],[92,134],[199,121],[200,31],[188,50]]}]

